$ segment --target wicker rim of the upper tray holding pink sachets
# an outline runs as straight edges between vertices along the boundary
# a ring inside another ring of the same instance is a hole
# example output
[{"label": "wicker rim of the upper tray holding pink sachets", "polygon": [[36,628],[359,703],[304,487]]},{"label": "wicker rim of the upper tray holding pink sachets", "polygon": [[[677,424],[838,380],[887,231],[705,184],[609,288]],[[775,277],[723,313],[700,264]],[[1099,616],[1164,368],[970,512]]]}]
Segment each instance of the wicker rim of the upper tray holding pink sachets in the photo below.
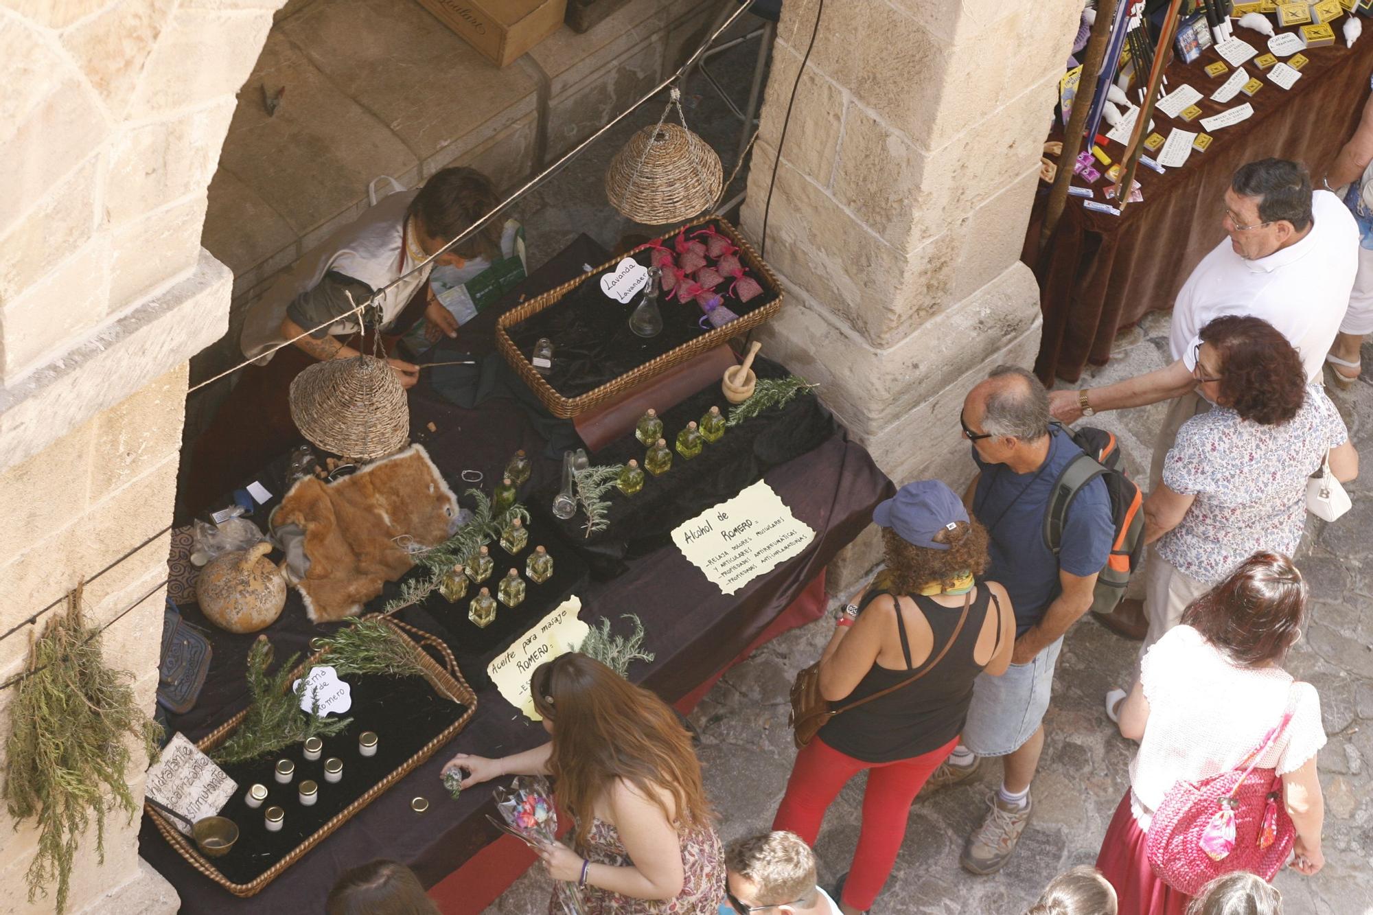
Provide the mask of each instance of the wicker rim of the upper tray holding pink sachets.
[{"label": "wicker rim of the upper tray holding pink sachets", "polygon": [[604,385],[600,385],[599,387],[595,387],[584,394],[578,394],[577,397],[564,397],[557,390],[555,390],[548,383],[548,381],[542,375],[540,375],[538,371],[535,371],[535,368],[519,350],[519,348],[515,345],[515,341],[511,339],[511,335],[507,328],[526,320],[531,315],[537,315],[545,308],[552,308],[559,301],[562,301],[563,297],[566,297],[570,291],[573,291],[586,280],[593,279],[599,276],[603,271],[610,269],[616,264],[619,264],[621,258],[630,257],[634,253],[643,251],[649,246],[640,245],[638,247],[619,257],[615,257],[614,260],[607,261],[605,264],[601,264],[590,273],[582,273],[581,276],[568,280],[567,283],[563,283],[562,286],[557,286],[544,293],[542,295],[537,295],[529,300],[527,302],[512,308],[511,310],[501,315],[501,317],[496,323],[496,348],[505,357],[505,361],[509,363],[511,368],[514,368],[519,374],[519,376],[524,379],[524,383],[529,385],[530,390],[534,392],[534,394],[544,404],[548,412],[551,412],[553,416],[557,416],[559,419],[571,419],[573,416],[578,416],[590,409],[592,407],[596,407],[614,397],[618,397],[627,390],[633,390],[634,387],[644,383],[649,378],[660,375],[673,365],[686,361],[692,356],[704,353],[706,350],[714,346],[719,346],[730,337],[743,334],[747,330],[758,327],[765,320],[777,313],[777,310],[781,308],[781,284],[777,282],[777,278],[768,268],[763,260],[758,256],[758,251],[754,250],[754,246],[750,245],[748,240],[739,234],[739,229],[730,225],[728,220],[719,216],[710,216],[706,218],[695,220],[684,227],[680,227],[678,229],[673,229],[671,232],[665,232],[663,238],[665,239],[671,238],[682,229],[692,229],[699,225],[704,225],[706,223],[718,224],[719,228],[724,229],[724,234],[729,236],[729,240],[739,246],[739,257],[744,264],[744,267],[747,267],[748,271],[758,279],[765,293],[773,295],[774,298],[766,305],[755,308],[747,315],[740,315],[737,320],[733,320],[725,324],[724,327],[715,327],[710,331],[706,331],[700,337],[692,338],[691,341],[667,350],[666,353],[655,356],[654,359],[638,365],[637,368],[625,372],[623,375]]}]

